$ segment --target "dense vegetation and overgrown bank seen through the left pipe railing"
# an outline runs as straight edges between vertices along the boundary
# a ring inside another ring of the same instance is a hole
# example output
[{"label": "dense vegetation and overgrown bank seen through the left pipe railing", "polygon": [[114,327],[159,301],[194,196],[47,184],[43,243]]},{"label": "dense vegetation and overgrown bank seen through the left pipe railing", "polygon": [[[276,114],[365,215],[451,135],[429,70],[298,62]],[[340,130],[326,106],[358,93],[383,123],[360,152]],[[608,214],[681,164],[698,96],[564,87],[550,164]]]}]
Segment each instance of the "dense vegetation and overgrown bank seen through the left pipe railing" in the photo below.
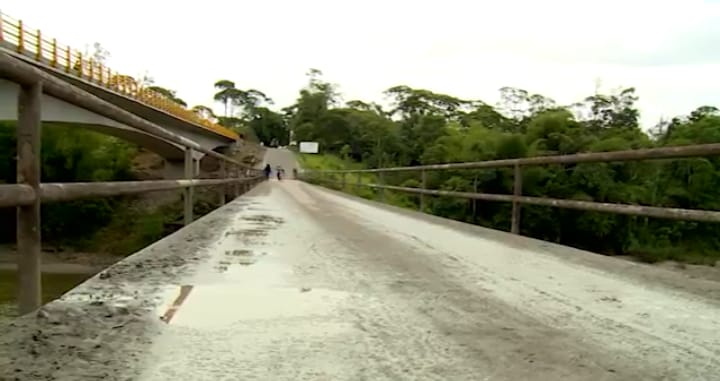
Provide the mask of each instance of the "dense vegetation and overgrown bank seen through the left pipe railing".
[{"label": "dense vegetation and overgrown bank seen through the left pipe railing", "polygon": [[[0,123],[0,184],[14,183],[15,125]],[[77,126],[44,124],[42,130],[42,181],[122,181],[133,180],[133,160],[138,148],[116,138]],[[209,205],[198,191],[195,215],[203,215],[217,205]],[[177,192],[170,192],[177,193]],[[114,255],[133,253],[177,229],[182,218],[179,195],[148,207],[137,197],[99,197],[59,203],[41,208],[42,238],[46,246],[98,251]],[[0,209],[0,243],[15,241],[15,208]]]}]

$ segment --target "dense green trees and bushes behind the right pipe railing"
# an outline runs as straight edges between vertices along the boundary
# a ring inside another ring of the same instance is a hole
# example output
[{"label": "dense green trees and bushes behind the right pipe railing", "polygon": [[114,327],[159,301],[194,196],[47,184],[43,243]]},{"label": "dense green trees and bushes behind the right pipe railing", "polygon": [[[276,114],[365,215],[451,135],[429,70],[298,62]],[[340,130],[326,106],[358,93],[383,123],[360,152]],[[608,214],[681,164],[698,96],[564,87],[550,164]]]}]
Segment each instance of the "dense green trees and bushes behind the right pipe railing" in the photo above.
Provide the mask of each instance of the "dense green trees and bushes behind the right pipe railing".
[{"label": "dense green trees and bushes behind the right pipe railing", "polygon": [[[286,109],[297,141],[318,141],[324,153],[367,167],[481,161],[720,142],[720,113],[703,106],[644,132],[633,88],[595,94],[569,106],[521,89],[501,89],[491,106],[407,86],[385,95],[392,107],[353,100],[341,105],[336,87],[311,71],[297,102]],[[662,162],[555,165],[524,169],[523,192],[610,203],[720,209],[716,158]],[[418,186],[418,174],[388,175],[394,185]],[[434,172],[434,189],[511,193],[509,169]],[[417,207],[417,197],[395,195]],[[509,229],[510,205],[435,198],[427,212]],[[607,254],[649,261],[714,263],[720,226],[605,213],[524,206],[522,234]]]}]

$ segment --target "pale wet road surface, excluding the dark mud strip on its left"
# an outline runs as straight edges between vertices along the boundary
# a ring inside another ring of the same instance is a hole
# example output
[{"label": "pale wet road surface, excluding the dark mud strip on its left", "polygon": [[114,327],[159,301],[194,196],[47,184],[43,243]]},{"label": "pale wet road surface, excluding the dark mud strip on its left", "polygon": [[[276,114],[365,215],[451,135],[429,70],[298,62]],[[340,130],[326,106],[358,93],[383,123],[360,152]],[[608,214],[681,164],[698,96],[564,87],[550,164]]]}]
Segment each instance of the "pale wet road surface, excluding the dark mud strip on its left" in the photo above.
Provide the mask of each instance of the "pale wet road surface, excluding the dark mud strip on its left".
[{"label": "pale wet road surface, excluding the dark mud strip on its left", "polygon": [[720,378],[713,301],[295,181],[255,201],[142,380]]}]

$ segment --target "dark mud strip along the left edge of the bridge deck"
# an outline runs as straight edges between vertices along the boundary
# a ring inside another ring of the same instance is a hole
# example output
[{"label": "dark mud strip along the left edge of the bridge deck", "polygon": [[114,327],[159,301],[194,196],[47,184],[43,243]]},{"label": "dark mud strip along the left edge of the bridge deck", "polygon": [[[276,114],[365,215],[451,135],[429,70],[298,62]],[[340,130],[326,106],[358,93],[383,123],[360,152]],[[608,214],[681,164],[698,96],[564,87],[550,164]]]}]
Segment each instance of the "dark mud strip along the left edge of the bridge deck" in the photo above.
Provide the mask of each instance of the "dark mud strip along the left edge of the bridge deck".
[{"label": "dark mud strip along the left edge of the bridge deck", "polygon": [[81,284],[37,313],[0,326],[0,380],[132,380],[162,329],[155,313],[167,285],[206,259],[236,201]]}]

